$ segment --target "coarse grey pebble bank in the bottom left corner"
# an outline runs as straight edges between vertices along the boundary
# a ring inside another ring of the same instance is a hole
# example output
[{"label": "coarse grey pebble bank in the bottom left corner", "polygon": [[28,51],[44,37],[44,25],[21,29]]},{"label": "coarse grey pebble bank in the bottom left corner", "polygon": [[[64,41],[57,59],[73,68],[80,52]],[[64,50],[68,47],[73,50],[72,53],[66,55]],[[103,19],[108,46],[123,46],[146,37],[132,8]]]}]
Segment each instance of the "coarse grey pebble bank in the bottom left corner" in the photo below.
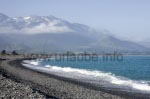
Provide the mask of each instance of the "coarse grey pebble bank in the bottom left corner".
[{"label": "coarse grey pebble bank in the bottom left corner", "polygon": [[1,99],[46,99],[45,95],[34,91],[29,86],[17,83],[0,72],[0,98]]}]

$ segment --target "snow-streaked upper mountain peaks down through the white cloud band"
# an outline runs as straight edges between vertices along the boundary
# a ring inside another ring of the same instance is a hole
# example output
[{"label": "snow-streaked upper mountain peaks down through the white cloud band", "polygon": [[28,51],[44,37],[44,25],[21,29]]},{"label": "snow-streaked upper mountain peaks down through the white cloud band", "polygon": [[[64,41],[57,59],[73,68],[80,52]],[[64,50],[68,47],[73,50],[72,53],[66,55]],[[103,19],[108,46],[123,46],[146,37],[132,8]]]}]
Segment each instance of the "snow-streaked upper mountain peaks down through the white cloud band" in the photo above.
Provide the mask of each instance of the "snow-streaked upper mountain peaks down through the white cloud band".
[{"label": "snow-streaked upper mountain peaks down through the white cloud band", "polygon": [[54,16],[26,16],[10,18],[0,14],[0,33],[64,33],[88,31],[90,28],[69,23]]}]

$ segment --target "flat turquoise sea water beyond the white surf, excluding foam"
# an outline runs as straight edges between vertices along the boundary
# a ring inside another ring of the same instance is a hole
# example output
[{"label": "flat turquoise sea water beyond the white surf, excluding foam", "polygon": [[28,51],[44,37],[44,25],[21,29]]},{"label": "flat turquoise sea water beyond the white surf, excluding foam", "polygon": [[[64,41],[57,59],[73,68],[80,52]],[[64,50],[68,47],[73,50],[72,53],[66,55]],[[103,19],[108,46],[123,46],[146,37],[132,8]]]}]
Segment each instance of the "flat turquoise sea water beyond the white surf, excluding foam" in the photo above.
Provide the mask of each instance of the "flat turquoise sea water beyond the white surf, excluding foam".
[{"label": "flat turquoise sea water beyond the white surf, excluding foam", "polygon": [[133,80],[150,81],[150,56],[124,56],[123,61],[45,60],[40,64],[111,72]]}]

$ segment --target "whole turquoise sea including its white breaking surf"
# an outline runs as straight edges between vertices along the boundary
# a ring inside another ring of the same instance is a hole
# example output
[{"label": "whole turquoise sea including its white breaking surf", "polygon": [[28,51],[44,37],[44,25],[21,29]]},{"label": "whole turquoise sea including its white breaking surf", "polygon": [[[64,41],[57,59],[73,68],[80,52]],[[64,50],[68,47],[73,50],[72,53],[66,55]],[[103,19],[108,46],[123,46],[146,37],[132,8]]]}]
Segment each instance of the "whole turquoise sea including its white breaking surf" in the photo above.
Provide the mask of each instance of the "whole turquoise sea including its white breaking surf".
[{"label": "whole turquoise sea including its white breaking surf", "polygon": [[37,59],[23,65],[106,88],[150,93],[150,56],[124,56],[122,61]]}]

